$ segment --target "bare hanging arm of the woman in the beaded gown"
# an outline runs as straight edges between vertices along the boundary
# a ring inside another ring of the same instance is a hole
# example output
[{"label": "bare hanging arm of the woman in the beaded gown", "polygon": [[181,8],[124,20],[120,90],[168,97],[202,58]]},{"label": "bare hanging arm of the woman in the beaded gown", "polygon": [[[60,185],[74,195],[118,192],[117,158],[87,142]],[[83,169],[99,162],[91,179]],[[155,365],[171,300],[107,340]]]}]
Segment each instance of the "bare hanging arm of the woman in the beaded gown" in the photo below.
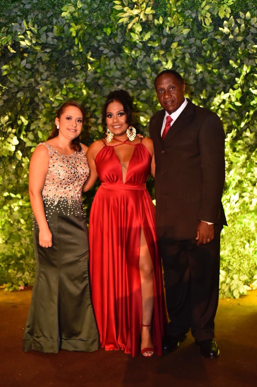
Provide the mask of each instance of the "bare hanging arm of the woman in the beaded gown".
[{"label": "bare hanging arm of the woman in the beaded gown", "polygon": [[42,247],[52,246],[52,233],[49,229],[44,203],[41,196],[48,170],[49,156],[44,145],[35,149],[29,164],[29,198],[33,214],[39,226],[39,244]]}]

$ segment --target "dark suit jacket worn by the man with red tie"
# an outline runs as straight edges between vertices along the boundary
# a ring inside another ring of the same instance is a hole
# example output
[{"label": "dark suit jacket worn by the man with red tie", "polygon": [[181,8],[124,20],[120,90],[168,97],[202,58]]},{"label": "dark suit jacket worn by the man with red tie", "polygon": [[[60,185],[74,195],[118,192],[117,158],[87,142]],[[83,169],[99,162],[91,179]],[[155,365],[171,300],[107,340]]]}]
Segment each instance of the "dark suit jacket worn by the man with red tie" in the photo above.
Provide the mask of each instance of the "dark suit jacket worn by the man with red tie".
[{"label": "dark suit jacket worn by the man with red tie", "polygon": [[157,231],[174,240],[195,239],[199,220],[220,229],[227,224],[221,204],[225,133],[218,115],[188,99],[162,140],[164,116],[165,110],[158,111],[149,124],[156,162]]}]

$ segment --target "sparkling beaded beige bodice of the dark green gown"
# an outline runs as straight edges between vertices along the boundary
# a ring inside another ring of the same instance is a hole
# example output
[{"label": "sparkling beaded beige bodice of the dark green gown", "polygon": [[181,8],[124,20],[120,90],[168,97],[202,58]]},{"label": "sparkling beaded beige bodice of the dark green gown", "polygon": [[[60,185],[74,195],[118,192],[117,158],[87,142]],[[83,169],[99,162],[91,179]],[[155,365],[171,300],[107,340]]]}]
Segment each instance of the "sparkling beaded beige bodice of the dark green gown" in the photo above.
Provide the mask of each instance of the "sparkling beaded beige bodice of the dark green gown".
[{"label": "sparkling beaded beige bodice of the dark green gown", "polygon": [[69,205],[74,202],[82,204],[82,188],[90,173],[83,149],[65,155],[46,142],[38,145],[45,145],[49,153],[48,171],[41,192],[44,202],[56,205],[66,199]]}]

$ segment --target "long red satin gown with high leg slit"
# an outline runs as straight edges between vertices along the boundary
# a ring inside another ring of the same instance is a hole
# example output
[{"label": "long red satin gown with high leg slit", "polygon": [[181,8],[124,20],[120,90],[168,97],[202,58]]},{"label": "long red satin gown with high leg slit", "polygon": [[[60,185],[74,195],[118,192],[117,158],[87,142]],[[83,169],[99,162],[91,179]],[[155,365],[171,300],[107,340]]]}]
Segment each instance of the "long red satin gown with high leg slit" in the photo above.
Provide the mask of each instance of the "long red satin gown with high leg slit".
[{"label": "long red satin gown with high leg slit", "polygon": [[[119,140],[117,140],[119,141]],[[121,141],[120,141],[121,142]],[[115,147],[134,146],[125,183]],[[141,230],[153,264],[154,350],[162,354],[165,307],[162,265],[157,245],[155,209],[145,182],[152,156],[141,142],[105,145],[95,163],[101,186],[90,212],[90,275],[92,301],[100,346],[122,349],[136,356],[142,325],[142,293],[139,272]]]}]

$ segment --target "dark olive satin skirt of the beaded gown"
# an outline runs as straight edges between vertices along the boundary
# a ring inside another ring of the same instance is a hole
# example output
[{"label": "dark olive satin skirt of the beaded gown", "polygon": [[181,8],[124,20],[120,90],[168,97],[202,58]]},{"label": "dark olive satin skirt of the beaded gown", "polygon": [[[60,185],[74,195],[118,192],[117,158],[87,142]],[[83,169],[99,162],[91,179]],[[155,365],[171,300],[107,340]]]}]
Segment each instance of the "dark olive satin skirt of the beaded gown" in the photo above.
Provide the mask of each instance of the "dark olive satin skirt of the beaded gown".
[{"label": "dark olive satin skirt of the beaded gown", "polygon": [[35,222],[36,277],[23,350],[95,351],[99,341],[90,298],[84,211],[79,205],[71,210],[65,201],[56,206],[45,204],[45,209],[53,246],[39,245],[39,228]]}]

